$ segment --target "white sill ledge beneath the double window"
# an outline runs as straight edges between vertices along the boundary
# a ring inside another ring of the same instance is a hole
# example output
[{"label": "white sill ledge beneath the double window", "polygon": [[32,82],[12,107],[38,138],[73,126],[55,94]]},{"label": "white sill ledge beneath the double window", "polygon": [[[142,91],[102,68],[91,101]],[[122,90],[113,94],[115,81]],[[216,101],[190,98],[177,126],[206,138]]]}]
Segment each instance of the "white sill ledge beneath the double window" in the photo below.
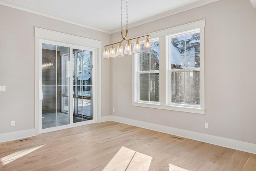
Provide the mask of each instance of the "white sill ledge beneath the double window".
[{"label": "white sill ledge beneath the double window", "polygon": [[205,112],[205,109],[200,109],[200,108],[159,105],[159,104],[154,104],[154,103],[132,102],[132,105],[139,106],[139,107],[149,107],[149,108],[154,108],[154,109],[183,111],[183,112],[198,113],[198,114],[204,114],[204,112]]}]

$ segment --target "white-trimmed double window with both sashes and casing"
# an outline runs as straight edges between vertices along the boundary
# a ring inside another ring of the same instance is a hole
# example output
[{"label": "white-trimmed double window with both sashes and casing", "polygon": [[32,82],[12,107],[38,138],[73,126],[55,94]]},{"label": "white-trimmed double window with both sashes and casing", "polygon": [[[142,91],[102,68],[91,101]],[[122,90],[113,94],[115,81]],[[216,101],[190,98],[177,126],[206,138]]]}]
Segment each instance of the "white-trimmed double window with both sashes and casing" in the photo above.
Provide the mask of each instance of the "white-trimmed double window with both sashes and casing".
[{"label": "white-trimmed double window with both sashes and casing", "polygon": [[151,34],[151,53],[133,58],[132,105],[204,114],[204,25]]}]

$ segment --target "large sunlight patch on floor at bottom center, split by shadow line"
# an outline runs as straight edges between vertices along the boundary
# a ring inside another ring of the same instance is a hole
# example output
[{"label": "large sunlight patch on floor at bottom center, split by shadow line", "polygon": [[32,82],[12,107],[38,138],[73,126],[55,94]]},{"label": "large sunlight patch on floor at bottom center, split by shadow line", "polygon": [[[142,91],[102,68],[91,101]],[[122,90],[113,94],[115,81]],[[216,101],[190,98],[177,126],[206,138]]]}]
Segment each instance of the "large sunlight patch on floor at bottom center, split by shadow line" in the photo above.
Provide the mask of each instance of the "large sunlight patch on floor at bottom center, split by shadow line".
[{"label": "large sunlight patch on floor at bottom center, split by shadow line", "polygon": [[151,160],[151,156],[139,153],[138,151],[134,151],[126,147],[121,147],[108,165],[106,165],[106,167],[103,169],[103,171],[148,171]]}]

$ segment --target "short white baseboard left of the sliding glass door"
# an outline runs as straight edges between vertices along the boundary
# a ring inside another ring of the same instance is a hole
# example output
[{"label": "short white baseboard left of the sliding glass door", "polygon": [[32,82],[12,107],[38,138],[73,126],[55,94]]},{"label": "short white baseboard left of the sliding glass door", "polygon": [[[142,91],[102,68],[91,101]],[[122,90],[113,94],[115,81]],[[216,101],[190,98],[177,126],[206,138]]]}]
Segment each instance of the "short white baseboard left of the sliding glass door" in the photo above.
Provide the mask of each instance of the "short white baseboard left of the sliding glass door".
[{"label": "short white baseboard left of the sliding glass door", "polygon": [[6,142],[6,141],[12,141],[16,139],[22,139],[26,137],[33,137],[35,136],[35,129],[26,129],[22,131],[14,131],[9,133],[1,133],[0,134],[0,143]]}]

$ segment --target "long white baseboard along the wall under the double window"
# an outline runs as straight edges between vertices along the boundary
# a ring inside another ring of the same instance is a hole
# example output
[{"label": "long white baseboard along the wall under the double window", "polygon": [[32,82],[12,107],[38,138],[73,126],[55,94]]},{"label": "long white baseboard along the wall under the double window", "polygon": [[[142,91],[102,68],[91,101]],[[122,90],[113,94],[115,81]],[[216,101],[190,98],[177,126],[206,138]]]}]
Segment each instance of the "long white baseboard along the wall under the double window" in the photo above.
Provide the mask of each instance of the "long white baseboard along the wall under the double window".
[{"label": "long white baseboard along the wall under the double window", "polygon": [[208,135],[208,134],[204,134],[204,133],[198,133],[198,132],[188,131],[188,130],[184,130],[184,129],[178,129],[178,128],[174,128],[174,127],[167,127],[167,126],[163,126],[163,125],[157,125],[154,123],[137,121],[137,120],[127,119],[124,117],[118,117],[118,116],[113,116],[113,115],[111,116],[111,120],[120,122],[120,123],[125,123],[128,125],[133,125],[133,126],[137,126],[137,127],[142,127],[142,128],[162,132],[162,133],[168,133],[171,135],[194,139],[196,141],[202,141],[205,143],[210,143],[210,144],[219,145],[222,147],[228,147],[231,149],[236,149],[236,150],[256,154],[256,144],[253,144],[253,143],[247,143],[247,142],[243,142],[243,141],[237,141],[234,139],[217,137],[214,135]]}]

